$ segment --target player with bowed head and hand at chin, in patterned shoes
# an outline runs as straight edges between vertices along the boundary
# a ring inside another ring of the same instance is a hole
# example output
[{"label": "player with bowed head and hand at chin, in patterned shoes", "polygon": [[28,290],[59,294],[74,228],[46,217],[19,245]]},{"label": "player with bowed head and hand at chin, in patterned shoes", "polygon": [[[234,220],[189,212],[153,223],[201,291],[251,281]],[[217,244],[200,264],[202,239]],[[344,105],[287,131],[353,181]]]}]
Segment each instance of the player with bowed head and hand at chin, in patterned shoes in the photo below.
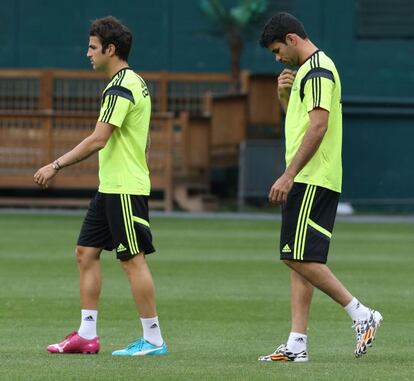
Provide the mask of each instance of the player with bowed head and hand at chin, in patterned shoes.
[{"label": "player with bowed head and hand at chin, in patterned shoes", "polygon": [[291,332],[260,361],[309,360],[307,326],[314,287],[344,307],[354,322],[360,357],[372,346],[382,316],[359,302],[326,265],[342,182],[341,81],[335,64],[308,38],[302,23],[278,13],[261,41],[284,69],[278,96],[286,112],[286,169],[269,201],[282,205],[281,260],[290,268]]}]

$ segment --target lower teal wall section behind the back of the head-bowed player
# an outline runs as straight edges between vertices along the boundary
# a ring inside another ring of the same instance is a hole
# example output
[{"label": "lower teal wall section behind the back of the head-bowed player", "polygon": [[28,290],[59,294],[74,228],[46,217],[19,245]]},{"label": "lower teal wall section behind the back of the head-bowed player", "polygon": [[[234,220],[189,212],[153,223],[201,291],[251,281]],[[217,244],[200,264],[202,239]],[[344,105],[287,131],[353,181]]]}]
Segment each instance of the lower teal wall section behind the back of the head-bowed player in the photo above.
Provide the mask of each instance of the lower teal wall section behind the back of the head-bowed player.
[{"label": "lower teal wall section behind the back of the head-bowed player", "polygon": [[343,199],[364,209],[414,211],[414,103],[344,111]]}]

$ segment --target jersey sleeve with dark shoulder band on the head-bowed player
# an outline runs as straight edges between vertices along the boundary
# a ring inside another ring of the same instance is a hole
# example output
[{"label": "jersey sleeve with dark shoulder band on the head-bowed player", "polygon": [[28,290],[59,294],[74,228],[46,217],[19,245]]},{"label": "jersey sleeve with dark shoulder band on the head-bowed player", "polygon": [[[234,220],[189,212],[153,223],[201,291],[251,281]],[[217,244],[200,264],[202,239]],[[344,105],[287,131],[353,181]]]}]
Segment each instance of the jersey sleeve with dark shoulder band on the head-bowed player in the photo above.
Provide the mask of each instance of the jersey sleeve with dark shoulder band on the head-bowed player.
[{"label": "jersey sleeve with dark shoulder band on the head-bowed player", "polygon": [[301,83],[301,97],[307,112],[318,107],[331,111],[334,87],[335,78],[330,70],[311,69]]}]

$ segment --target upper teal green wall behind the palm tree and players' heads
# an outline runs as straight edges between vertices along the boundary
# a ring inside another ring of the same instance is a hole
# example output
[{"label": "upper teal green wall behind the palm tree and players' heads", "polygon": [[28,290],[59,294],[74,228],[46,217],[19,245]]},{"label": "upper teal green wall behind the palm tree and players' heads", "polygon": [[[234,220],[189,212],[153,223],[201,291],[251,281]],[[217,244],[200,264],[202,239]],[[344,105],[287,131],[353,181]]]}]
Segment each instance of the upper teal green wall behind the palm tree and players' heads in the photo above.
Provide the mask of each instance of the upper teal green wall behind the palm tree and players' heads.
[{"label": "upper teal green wall behind the palm tree and players' heads", "polygon": [[[357,39],[355,0],[281,3],[290,3],[311,39],[335,60],[345,97],[411,96],[412,40]],[[113,14],[133,31],[130,63],[138,70],[227,71],[227,46],[200,35],[208,23],[197,4],[197,0],[9,0],[0,15],[0,67],[89,68],[85,57],[89,21]],[[256,40],[259,35],[260,30]],[[281,69],[256,41],[247,44],[242,65],[254,72]]]}]

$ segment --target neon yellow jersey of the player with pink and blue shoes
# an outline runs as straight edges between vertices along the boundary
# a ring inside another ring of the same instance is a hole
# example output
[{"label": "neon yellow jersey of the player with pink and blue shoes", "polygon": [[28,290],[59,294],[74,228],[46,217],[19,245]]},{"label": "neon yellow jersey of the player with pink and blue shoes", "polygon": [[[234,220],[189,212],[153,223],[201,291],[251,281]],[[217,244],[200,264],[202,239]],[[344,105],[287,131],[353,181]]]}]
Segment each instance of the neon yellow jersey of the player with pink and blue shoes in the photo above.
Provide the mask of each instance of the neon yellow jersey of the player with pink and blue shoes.
[{"label": "neon yellow jersey of the player with pink and blue shoes", "polygon": [[102,94],[98,120],[117,128],[99,151],[99,192],[149,195],[145,148],[150,117],[144,80],[130,68],[121,69]]}]

